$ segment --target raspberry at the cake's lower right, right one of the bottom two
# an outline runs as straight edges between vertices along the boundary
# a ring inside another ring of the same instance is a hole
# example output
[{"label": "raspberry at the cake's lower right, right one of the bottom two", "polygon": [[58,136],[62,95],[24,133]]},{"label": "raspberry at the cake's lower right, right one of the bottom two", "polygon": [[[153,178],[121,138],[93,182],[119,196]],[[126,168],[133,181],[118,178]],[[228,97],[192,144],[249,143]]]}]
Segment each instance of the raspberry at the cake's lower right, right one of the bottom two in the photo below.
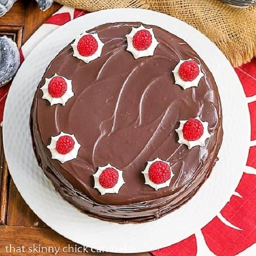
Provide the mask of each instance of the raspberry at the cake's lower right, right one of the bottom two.
[{"label": "raspberry at the cake's lower right, right one of the bottom two", "polygon": [[156,161],[149,167],[149,179],[155,184],[161,184],[171,178],[170,166],[162,161]]}]

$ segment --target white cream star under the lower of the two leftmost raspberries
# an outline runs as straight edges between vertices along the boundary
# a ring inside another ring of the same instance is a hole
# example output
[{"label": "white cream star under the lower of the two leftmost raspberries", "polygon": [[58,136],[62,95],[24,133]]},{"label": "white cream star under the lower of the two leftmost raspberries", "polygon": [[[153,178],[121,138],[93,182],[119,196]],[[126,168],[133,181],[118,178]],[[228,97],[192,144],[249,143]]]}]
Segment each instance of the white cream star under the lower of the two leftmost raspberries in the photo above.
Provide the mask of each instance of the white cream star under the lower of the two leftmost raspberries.
[{"label": "white cream star under the lower of the two leftmost raspberries", "polygon": [[[56,150],[56,144],[57,144],[57,141],[59,140],[59,138],[62,137],[62,136],[65,136],[65,135],[70,136],[71,138],[73,138],[74,148],[70,152],[68,152],[67,154],[60,154]],[[69,160],[75,159],[77,157],[78,150],[80,149],[80,147],[81,147],[81,145],[76,140],[76,137],[74,137],[74,134],[64,133],[63,131],[61,131],[61,133],[59,135],[51,137],[51,143],[50,143],[50,145],[47,146],[47,148],[50,149],[50,151],[52,153],[52,159],[57,159],[62,164],[69,161]]]}]

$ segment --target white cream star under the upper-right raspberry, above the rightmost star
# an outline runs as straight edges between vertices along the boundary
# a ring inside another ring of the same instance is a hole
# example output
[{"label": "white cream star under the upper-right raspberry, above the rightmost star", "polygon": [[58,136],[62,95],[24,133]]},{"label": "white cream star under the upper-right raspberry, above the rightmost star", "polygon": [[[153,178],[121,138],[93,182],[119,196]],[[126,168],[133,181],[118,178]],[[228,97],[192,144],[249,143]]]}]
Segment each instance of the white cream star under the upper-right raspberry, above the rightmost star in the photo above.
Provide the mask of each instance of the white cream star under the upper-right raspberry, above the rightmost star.
[{"label": "white cream star under the upper-right raspberry, above the rightmost star", "polygon": [[204,76],[204,74],[201,71],[201,65],[197,64],[197,66],[199,67],[198,76],[193,81],[183,81],[179,75],[179,69],[180,69],[180,65],[186,61],[192,61],[192,59],[180,60],[178,62],[178,64],[176,65],[176,67],[172,71],[174,78],[175,78],[175,84],[180,85],[184,90],[186,90],[187,88],[190,88],[190,87],[197,87],[200,79]]}]

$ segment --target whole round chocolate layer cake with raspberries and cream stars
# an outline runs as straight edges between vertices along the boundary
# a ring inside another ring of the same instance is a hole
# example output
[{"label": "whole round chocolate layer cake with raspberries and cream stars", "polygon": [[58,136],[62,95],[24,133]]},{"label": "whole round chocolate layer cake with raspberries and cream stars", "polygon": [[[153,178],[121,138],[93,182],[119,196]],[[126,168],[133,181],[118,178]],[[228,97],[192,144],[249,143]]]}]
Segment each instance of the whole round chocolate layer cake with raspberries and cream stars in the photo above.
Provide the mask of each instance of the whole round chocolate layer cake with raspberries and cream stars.
[{"label": "whole round chocolate layer cake with raspberries and cream stars", "polygon": [[57,192],[91,216],[161,218],[195,194],[218,159],[213,75],[157,26],[117,22],[86,32],[52,60],[36,90],[38,162]]}]

